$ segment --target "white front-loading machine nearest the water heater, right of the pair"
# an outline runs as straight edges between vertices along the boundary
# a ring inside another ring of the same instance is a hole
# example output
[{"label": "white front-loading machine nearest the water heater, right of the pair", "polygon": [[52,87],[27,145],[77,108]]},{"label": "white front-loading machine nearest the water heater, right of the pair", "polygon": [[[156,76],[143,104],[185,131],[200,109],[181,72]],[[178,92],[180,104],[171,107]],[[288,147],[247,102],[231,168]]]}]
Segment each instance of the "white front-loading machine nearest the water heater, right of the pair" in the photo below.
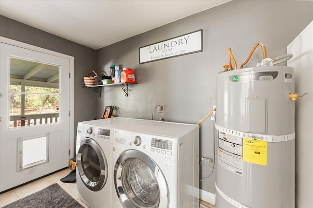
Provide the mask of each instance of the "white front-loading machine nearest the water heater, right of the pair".
[{"label": "white front-loading machine nearest the water heater, right of the pair", "polygon": [[199,125],[116,128],[114,208],[199,208]]}]

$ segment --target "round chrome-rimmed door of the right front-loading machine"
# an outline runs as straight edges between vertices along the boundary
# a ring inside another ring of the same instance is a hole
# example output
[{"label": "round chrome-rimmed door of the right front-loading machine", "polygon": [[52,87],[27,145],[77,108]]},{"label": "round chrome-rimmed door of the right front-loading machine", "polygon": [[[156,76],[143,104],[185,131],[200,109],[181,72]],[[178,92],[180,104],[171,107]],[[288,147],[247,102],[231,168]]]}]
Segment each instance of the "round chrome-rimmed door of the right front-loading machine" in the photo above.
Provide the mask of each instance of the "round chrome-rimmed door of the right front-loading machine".
[{"label": "round chrome-rimmed door of the right front-loading machine", "polygon": [[114,185],[124,208],[169,206],[166,179],[157,164],[145,153],[124,151],[114,166]]}]

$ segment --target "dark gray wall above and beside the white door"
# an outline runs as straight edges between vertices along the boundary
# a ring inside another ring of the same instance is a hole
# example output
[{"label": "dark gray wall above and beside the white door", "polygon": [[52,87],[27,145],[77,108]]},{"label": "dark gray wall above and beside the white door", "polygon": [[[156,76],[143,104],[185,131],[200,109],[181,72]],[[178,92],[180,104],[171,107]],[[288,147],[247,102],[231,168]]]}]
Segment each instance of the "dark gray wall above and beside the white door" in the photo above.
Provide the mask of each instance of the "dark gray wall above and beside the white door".
[{"label": "dark gray wall above and beside the white door", "polygon": [[99,114],[98,95],[92,89],[82,88],[83,76],[96,68],[96,51],[4,16],[0,16],[0,36],[74,57],[74,77],[71,76],[74,78],[74,112],[71,114],[76,146],[77,123],[92,120]]}]

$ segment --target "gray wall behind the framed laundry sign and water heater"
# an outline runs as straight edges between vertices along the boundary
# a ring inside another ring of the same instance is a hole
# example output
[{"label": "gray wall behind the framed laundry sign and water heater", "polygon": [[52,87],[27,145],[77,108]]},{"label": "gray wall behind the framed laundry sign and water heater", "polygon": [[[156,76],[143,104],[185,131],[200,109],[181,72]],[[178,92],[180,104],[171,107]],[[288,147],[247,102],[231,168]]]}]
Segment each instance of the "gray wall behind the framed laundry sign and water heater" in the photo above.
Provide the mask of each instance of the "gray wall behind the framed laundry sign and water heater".
[{"label": "gray wall behind the framed laundry sign and water heater", "polygon": [[[238,65],[258,41],[266,45],[268,57],[286,54],[287,45],[312,21],[312,11],[313,1],[230,1],[99,49],[98,72],[110,74],[111,64],[131,67],[138,84],[130,87],[129,97],[119,87],[103,88],[98,111],[116,105],[117,116],[151,119],[156,105],[162,104],[165,113],[155,113],[155,119],[197,123],[215,105],[215,78],[228,63],[228,47]],[[203,52],[139,64],[139,47],[198,29],[203,29]],[[246,67],[261,60],[257,48]],[[201,155],[213,157],[210,119],[201,123],[200,139]],[[205,177],[212,165],[203,162],[201,169]],[[201,189],[215,193],[214,183],[215,173],[201,182]]]}]

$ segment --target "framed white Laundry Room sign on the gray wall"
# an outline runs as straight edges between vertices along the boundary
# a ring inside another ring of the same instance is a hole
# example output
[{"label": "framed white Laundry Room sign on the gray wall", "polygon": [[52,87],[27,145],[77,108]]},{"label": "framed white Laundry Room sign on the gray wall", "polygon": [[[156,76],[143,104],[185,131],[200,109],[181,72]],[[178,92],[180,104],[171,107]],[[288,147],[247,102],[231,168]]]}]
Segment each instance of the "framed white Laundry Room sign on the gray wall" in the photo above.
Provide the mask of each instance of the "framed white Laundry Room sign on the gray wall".
[{"label": "framed white Laundry Room sign on the gray wall", "polygon": [[202,29],[139,48],[139,63],[203,51]]}]

